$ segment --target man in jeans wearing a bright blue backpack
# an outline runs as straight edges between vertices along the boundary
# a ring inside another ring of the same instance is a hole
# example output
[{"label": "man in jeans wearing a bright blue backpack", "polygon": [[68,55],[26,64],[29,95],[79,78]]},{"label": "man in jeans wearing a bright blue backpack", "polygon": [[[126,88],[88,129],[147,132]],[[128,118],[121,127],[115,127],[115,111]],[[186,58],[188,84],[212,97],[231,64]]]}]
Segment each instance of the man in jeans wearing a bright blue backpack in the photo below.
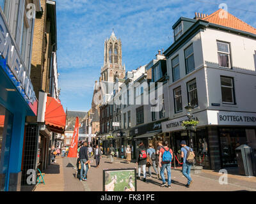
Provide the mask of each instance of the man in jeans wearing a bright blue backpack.
[{"label": "man in jeans wearing a bright blue backpack", "polygon": [[162,187],[166,186],[164,170],[167,170],[168,175],[168,187],[171,187],[171,166],[172,166],[173,152],[172,149],[168,147],[168,141],[164,142],[164,147],[159,150],[159,166],[161,168],[160,173],[162,177],[163,184]]}]

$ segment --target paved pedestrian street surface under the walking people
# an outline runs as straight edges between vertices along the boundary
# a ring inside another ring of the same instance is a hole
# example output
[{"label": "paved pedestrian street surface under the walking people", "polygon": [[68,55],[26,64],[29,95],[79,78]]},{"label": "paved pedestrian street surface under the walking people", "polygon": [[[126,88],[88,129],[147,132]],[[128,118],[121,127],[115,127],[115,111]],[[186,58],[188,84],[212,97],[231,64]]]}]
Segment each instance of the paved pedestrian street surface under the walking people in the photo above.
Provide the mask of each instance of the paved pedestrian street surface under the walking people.
[{"label": "paved pedestrian street surface under the walking people", "polygon": [[[93,158],[91,157],[90,160]],[[127,164],[123,159],[115,158],[110,163],[110,158],[104,156],[100,160],[99,168],[95,168],[95,160],[88,171],[88,181],[80,182],[76,179],[76,158],[56,157],[56,163],[51,164],[45,171],[45,184],[38,184],[35,191],[102,191],[102,170],[106,168],[134,168],[135,163]],[[153,170],[154,172],[154,170]],[[194,180],[191,187],[187,188],[186,178],[181,169],[172,169],[172,187],[161,187],[161,180],[147,178],[147,183],[137,180],[138,191],[256,191],[256,178],[239,175],[228,175],[228,184],[218,182],[220,175],[216,172],[203,170],[202,173],[191,175]],[[142,172],[141,172],[142,176]]]}]

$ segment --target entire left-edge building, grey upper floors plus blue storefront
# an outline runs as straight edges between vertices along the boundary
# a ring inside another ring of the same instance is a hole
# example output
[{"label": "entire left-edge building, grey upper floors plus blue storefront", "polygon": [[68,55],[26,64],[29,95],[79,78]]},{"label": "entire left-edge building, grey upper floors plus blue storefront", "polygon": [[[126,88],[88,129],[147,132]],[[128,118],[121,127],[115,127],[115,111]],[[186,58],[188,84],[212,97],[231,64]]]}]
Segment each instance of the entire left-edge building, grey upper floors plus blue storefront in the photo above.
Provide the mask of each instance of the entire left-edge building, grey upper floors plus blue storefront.
[{"label": "entire left-edge building, grey upper floors plus blue storefront", "polygon": [[35,20],[24,15],[28,3],[0,1],[0,191],[20,191],[26,117],[37,112],[30,66]]}]

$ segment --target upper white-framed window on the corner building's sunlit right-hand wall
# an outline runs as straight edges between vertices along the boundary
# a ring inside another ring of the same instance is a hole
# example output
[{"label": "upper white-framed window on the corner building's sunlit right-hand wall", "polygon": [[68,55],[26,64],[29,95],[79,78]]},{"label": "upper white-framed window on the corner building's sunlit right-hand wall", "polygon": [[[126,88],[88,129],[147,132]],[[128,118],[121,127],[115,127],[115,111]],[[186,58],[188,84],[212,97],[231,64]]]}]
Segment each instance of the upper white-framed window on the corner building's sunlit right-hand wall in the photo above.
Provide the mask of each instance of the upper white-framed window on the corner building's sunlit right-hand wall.
[{"label": "upper white-framed window on the corner building's sunlit right-hand wall", "polygon": [[217,41],[218,61],[221,68],[231,68],[229,43]]}]

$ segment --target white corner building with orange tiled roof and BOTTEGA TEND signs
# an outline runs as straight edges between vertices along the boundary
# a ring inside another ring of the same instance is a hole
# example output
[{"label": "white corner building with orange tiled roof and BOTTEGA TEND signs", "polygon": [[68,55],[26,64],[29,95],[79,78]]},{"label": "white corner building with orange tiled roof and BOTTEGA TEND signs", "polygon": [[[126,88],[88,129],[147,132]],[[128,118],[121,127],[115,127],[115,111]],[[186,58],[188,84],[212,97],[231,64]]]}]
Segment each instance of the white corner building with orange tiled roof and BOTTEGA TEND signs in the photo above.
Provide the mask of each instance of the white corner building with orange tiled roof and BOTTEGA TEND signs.
[{"label": "white corner building with orange tiled roof and BOTTEGA TEND signs", "polygon": [[[219,170],[237,166],[235,149],[255,148],[256,29],[225,10],[181,17],[174,43],[164,52],[169,78],[170,118],[162,122],[175,154],[193,136],[196,161]],[[185,106],[195,106],[196,131],[186,131]]]}]

